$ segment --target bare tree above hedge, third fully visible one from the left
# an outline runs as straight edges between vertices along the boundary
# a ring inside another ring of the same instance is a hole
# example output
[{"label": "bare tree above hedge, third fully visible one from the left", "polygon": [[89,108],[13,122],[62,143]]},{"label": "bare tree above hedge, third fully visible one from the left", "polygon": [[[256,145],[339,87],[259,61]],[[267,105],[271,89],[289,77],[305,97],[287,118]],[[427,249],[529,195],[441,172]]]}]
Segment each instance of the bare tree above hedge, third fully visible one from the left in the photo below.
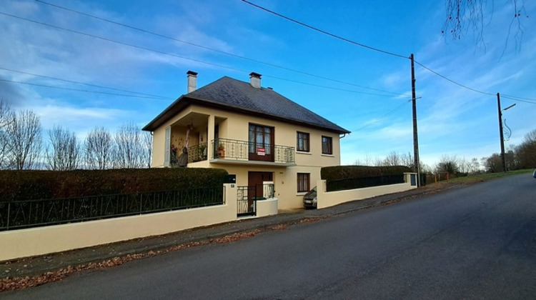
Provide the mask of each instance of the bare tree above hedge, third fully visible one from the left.
[{"label": "bare tree above hedge, third fully visible one from the left", "polygon": [[95,127],[84,141],[86,166],[89,169],[111,168],[114,144],[111,134],[104,127]]}]

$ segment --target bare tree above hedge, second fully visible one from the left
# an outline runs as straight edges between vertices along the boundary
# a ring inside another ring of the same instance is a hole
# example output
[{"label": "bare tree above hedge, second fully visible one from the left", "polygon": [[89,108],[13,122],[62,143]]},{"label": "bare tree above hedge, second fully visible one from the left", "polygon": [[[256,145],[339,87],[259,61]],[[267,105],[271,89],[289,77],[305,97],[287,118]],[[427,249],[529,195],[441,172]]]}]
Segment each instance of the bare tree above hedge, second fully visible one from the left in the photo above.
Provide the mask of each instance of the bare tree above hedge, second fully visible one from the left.
[{"label": "bare tree above hedge, second fully visible one from the left", "polygon": [[46,149],[46,164],[50,170],[66,171],[78,168],[80,164],[80,143],[76,134],[54,126],[49,130],[50,144]]}]

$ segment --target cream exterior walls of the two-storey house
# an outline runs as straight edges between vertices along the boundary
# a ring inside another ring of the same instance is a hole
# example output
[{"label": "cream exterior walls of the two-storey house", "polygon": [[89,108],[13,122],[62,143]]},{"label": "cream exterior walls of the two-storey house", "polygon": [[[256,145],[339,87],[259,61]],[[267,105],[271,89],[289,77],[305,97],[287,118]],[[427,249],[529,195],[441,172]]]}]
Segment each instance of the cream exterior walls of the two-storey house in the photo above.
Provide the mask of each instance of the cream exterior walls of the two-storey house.
[{"label": "cream exterior walls of the two-storey house", "polygon": [[[274,174],[274,188],[276,196],[279,199],[279,209],[297,209],[302,208],[302,198],[304,192],[297,192],[297,173],[309,173],[310,188],[314,187],[320,179],[320,169],[322,166],[338,166],[340,164],[340,146],[339,134],[319,129],[312,129],[307,126],[299,126],[296,124],[288,124],[282,121],[260,118],[258,116],[249,116],[244,114],[234,113],[232,111],[221,111],[202,106],[189,106],[174,118],[167,121],[165,124],[154,131],[154,159],[153,167],[164,166],[164,141],[165,128],[172,126],[190,113],[207,115],[207,122],[210,117],[214,118],[215,124],[219,124],[219,138],[236,139],[248,141],[249,139],[249,124],[259,124],[262,126],[274,127],[274,144],[282,146],[292,146],[296,149],[297,146],[297,131],[309,133],[309,152],[296,152],[296,166],[273,166],[273,165],[257,165],[257,164],[224,164],[211,163],[209,161],[199,161],[194,164],[189,164],[189,167],[211,167],[226,169],[229,174],[237,175],[237,184],[246,186],[248,184],[248,171],[267,171]],[[180,131],[180,130],[179,130]],[[185,132],[185,129],[182,130]],[[177,130],[172,131],[172,135]],[[180,136],[178,132],[176,136]],[[214,128],[209,126],[208,133],[209,159],[212,154],[212,144],[214,138]],[[330,136],[332,138],[333,154],[322,154],[322,136]],[[192,139],[192,136],[190,136]],[[174,138],[172,137],[172,144]]]}]

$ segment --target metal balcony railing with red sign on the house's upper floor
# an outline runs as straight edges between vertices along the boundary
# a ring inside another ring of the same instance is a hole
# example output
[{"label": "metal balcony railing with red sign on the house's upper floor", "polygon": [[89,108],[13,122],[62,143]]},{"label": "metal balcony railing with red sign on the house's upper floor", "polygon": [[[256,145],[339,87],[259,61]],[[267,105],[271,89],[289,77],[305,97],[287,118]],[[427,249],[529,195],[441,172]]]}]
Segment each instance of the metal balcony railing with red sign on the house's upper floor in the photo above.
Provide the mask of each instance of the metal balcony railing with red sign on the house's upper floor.
[{"label": "metal balcony railing with red sign on the house's upper floor", "polygon": [[249,141],[236,139],[215,139],[212,141],[213,159],[234,161],[269,161],[278,164],[294,164],[294,147],[268,145],[258,148]]}]

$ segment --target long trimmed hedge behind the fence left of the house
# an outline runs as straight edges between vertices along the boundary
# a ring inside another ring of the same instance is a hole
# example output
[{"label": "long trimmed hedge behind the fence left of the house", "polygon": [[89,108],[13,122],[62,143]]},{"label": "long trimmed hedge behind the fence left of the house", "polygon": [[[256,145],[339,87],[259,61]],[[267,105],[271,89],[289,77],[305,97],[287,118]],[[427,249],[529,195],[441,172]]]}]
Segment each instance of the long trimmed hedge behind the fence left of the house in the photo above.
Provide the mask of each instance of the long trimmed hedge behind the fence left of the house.
[{"label": "long trimmed hedge behind the fence left of the house", "polygon": [[221,186],[223,169],[0,171],[0,201],[135,194]]}]

